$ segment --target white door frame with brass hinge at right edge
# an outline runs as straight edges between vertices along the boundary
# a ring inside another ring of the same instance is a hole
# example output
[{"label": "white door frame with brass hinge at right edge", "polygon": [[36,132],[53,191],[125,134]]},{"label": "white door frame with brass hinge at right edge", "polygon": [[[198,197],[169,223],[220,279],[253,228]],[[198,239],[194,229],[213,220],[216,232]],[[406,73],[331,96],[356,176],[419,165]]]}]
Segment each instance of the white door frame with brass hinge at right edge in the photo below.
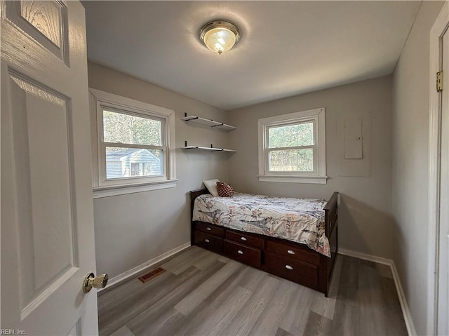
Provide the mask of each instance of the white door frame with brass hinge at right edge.
[{"label": "white door frame with brass hinge at right edge", "polygon": [[[436,91],[436,72],[441,71],[441,38],[449,27],[449,3],[445,2],[430,30],[429,94],[429,267],[427,287],[427,335],[436,335],[438,325],[438,263],[441,157],[441,93]],[[445,74],[448,78],[448,74]],[[449,82],[443,83],[449,85]]]}]

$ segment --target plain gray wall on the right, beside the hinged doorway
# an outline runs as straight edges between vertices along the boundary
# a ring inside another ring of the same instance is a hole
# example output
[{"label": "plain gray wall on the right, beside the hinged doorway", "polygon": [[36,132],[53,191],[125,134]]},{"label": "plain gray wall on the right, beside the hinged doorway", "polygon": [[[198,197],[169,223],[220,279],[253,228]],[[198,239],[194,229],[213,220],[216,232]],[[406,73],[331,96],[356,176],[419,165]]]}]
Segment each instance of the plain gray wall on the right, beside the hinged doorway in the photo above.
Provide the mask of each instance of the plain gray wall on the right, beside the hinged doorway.
[{"label": "plain gray wall on the right, beside the hinged doorway", "polygon": [[442,6],[423,2],[393,81],[394,262],[418,335],[427,324],[429,32]]}]

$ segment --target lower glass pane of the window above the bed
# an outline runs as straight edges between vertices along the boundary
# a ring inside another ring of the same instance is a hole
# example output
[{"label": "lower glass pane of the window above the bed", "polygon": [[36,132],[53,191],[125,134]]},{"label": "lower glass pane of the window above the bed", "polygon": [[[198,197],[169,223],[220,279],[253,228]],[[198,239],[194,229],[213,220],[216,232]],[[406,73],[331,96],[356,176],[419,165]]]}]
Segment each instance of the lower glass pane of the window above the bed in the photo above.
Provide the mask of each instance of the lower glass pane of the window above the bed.
[{"label": "lower glass pane of the window above the bed", "polygon": [[314,149],[270,151],[269,171],[314,171]]}]

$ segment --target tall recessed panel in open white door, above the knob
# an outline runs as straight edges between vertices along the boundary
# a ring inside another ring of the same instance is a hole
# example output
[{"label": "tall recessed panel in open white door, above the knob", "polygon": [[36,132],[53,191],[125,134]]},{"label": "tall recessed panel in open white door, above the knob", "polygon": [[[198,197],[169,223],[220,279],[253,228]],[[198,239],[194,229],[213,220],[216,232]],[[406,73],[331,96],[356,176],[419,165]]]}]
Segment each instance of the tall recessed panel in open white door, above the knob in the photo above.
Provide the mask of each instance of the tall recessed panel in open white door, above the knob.
[{"label": "tall recessed panel in open white door, above the knob", "polygon": [[[18,72],[8,71],[8,77],[8,99],[16,102],[9,127],[23,320],[78,269],[72,132],[68,98]],[[47,178],[46,170],[53,170]]]}]

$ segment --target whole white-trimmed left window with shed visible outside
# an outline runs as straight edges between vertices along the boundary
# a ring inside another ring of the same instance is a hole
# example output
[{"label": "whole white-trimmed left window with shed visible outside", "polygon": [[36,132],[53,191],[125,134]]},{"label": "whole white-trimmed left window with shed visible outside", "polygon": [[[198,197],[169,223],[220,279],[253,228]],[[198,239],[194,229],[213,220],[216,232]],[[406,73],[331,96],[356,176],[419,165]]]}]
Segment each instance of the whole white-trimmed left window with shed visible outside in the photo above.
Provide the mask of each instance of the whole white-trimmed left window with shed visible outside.
[{"label": "whole white-trimmed left window with shed visible outside", "polygon": [[175,187],[175,112],[90,92],[94,197]]}]

